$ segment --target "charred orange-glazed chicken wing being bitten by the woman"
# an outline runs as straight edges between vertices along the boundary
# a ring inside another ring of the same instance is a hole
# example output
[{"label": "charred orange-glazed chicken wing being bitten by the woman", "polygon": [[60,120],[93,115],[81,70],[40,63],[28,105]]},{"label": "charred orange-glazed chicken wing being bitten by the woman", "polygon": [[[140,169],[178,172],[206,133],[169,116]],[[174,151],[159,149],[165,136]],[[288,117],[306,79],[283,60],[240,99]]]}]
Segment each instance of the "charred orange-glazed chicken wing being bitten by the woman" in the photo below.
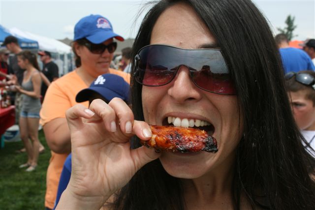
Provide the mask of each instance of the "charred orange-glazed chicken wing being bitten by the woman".
[{"label": "charred orange-glazed chicken wing being bitten by the woman", "polygon": [[141,144],[156,150],[217,152],[217,140],[206,131],[191,127],[151,125],[152,138]]}]

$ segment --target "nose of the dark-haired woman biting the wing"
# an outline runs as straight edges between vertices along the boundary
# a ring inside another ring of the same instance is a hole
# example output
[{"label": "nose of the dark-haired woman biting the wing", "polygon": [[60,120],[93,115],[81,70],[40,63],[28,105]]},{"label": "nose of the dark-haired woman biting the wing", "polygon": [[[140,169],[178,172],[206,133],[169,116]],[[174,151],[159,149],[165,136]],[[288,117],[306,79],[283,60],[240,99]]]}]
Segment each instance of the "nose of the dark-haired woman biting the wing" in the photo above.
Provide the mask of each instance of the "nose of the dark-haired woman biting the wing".
[{"label": "nose of the dark-haired woman biting the wing", "polygon": [[201,98],[201,89],[193,84],[189,74],[186,66],[180,66],[171,83],[172,86],[167,91],[179,103],[195,102]]}]

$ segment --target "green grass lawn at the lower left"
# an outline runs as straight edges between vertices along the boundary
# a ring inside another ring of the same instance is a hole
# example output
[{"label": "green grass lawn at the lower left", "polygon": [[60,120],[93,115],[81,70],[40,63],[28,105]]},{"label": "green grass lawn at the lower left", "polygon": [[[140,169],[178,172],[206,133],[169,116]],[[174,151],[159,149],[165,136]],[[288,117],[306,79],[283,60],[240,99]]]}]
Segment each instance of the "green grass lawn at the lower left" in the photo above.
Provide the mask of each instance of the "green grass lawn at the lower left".
[{"label": "green grass lawn at the lower left", "polygon": [[0,210],[44,210],[46,172],[51,154],[42,130],[39,140],[45,151],[39,155],[38,166],[32,172],[19,168],[27,161],[26,152],[15,152],[23,148],[22,141],[6,142],[0,149]]}]

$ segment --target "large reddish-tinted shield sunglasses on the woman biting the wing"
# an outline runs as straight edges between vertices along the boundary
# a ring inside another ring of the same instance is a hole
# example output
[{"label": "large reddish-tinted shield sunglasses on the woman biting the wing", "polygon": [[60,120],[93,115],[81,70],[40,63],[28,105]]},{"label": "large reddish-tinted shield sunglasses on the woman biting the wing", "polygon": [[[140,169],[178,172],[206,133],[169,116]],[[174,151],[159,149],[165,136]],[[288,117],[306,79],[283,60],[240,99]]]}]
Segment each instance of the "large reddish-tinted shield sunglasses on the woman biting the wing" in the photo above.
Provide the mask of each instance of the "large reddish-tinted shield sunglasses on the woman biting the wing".
[{"label": "large reddish-tinted shield sunglasses on the woman biting the wing", "polygon": [[148,45],[135,56],[135,80],[144,86],[170,83],[178,69],[186,66],[198,88],[218,94],[235,94],[229,71],[217,49],[181,49],[167,45]]}]

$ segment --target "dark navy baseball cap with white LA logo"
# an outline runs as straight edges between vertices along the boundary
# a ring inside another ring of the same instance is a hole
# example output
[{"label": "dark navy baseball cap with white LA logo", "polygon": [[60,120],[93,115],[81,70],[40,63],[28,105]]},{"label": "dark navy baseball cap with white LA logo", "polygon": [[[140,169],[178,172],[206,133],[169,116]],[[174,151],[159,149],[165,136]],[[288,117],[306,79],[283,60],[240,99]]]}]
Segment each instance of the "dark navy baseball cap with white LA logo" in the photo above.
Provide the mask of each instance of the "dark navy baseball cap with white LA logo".
[{"label": "dark navy baseball cap with white LA logo", "polygon": [[96,92],[108,101],[115,97],[129,102],[129,84],[116,74],[102,74],[92,82],[89,88],[83,89],[75,97],[76,102],[84,102],[90,99],[91,93]]}]

